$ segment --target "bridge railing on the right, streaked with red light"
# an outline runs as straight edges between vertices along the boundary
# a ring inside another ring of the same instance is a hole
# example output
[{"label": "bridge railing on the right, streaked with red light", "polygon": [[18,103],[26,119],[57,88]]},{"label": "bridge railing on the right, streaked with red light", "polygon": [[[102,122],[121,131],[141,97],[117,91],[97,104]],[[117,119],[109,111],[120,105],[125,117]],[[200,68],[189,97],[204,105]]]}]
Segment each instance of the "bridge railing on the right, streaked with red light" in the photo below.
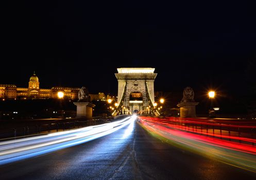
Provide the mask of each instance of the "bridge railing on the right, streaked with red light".
[{"label": "bridge railing on the right, streaked with red light", "polygon": [[185,132],[196,133],[203,136],[211,136],[229,141],[247,143],[255,146],[256,122],[255,121],[231,121],[197,118],[177,117],[143,117],[151,122],[164,125],[167,128],[178,129]]}]

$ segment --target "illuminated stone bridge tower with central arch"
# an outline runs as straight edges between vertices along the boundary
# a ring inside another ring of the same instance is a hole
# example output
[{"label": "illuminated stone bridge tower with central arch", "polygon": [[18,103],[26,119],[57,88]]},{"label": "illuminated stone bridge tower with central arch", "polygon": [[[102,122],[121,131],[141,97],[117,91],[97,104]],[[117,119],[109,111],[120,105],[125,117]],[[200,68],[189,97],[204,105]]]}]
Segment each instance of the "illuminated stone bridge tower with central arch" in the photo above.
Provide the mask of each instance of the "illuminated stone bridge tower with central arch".
[{"label": "illuminated stone bridge tower with central arch", "polygon": [[113,116],[134,112],[159,115],[153,105],[154,81],[157,76],[154,70],[155,68],[117,68],[115,77],[118,81],[118,105]]}]

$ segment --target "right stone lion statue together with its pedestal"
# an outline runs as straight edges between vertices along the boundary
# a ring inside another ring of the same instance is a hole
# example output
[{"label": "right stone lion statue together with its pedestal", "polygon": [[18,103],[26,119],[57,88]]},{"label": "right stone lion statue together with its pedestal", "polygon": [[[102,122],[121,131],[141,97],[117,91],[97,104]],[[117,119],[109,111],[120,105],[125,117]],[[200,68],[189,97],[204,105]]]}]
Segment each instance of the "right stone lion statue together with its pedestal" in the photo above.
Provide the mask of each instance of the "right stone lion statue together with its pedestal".
[{"label": "right stone lion statue together with its pedestal", "polygon": [[180,117],[196,117],[196,105],[194,91],[191,87],[185,87],[183,98],[177,106],[180,108]]}]

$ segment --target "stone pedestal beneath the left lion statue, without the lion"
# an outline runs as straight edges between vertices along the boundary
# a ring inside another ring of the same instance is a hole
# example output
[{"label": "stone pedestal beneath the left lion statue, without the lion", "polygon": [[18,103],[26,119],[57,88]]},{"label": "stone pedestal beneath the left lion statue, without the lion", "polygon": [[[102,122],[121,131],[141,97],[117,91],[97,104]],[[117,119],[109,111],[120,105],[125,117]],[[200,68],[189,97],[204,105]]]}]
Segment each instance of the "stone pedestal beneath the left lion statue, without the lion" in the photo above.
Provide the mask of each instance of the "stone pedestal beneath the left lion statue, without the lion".
[{"label": "stone pedestal beneath the left lion statue, without the lion", "polygon": [[76,118],[92,118],[92,108],[95,104],[90,102],[74,102],[76,107]]}]

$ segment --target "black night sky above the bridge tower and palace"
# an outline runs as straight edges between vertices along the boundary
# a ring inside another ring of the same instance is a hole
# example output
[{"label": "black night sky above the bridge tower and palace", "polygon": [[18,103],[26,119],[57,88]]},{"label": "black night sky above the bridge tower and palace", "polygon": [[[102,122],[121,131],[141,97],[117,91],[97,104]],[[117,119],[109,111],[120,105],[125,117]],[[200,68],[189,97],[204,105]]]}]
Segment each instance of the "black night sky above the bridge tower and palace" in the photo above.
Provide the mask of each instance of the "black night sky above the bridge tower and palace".
[{"label": "black night sky above the bridge tower and palace", "polygon": [[[8,1],[0,83],[117,93],[118,67],[155,67],[155,91],[243,92],[255,1]],[[256,79],[256,77],[255,77]]]}]

